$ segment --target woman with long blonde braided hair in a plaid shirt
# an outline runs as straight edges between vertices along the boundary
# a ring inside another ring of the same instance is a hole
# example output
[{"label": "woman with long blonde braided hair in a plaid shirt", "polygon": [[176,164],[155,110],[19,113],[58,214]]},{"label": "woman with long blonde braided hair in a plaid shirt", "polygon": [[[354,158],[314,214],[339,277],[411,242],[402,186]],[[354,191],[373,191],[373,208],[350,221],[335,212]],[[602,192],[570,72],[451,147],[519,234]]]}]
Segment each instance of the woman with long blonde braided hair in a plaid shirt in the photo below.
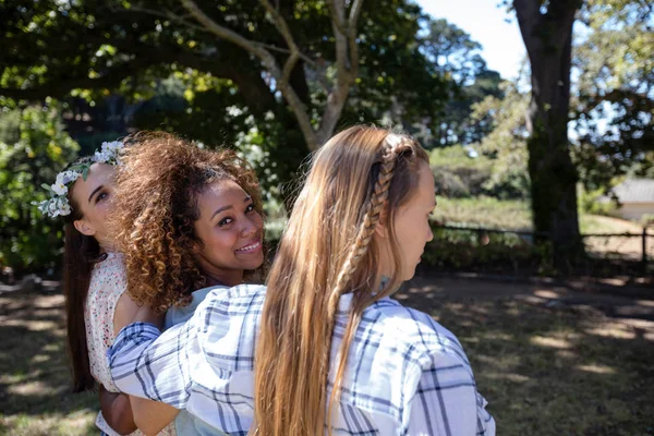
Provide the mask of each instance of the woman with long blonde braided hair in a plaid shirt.
[{"label": "woman with long blonde braided hair in a plaid shirt", "polygon": [[213,292],[160,337],[128,326],[110,351],[118,386],[229,434],[494,435],[457,338],[389,298],[434,207],[415,141],[341,132],[314,156],[267,289]]}]

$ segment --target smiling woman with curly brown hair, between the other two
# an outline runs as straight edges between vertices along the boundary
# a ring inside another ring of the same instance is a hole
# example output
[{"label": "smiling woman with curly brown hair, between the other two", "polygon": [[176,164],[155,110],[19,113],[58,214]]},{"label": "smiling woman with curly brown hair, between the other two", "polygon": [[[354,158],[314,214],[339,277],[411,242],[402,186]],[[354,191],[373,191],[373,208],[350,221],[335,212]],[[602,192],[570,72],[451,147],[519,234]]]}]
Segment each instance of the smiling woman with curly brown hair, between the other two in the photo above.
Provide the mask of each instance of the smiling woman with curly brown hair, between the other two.
[{"label": "smiling woman with curly brown hair, between the other two", "polygon": [[[229,149],[202,149],[160,132],[129,141],[116,174],[109,222],[131,299],[119,302],[114,322],[128,324],[141,305],[166,312],[168,328],[191,317],[209,290],[261,276],[265,253],[258,181]],[[177,411],[169,412],[172,419]],[[182,435],[217,434],[185,412],[174,425]],[[157,429],[153,425],[148,432]]]}]

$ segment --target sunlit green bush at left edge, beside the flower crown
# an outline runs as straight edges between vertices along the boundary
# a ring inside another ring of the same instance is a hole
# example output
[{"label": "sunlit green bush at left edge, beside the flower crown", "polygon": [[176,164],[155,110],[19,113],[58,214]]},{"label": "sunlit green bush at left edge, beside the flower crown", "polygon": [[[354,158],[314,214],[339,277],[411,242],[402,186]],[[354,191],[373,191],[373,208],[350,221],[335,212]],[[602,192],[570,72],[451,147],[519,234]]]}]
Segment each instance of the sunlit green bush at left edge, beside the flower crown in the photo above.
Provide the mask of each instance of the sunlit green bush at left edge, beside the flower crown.
[{"label": "sunlit green bush at left edge, beside the flower crown", "polygon": [[33,202],[46,198],[38,187],[51,184],[72,160],[77,144],[65,133],[58,106],[4,111],[0,116],[0,265],[19,271],[57,262],[62,232]]}]

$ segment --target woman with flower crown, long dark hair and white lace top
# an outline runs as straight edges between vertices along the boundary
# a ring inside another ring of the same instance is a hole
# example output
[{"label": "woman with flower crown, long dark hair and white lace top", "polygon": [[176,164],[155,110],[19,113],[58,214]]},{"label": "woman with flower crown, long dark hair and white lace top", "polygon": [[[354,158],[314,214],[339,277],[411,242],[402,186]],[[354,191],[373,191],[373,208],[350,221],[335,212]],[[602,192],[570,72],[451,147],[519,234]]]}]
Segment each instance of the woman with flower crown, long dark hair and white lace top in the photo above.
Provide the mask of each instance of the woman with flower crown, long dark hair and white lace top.
[{"label": "woman with flower crown, long dark hair and white lace top", "polygon": [[[105,359],[114,328],[120,328],[114,323],[117,305],[122,300],[122,305],[128,306],[131,301],[124,292],[122,256],[116,252],[107,227],[122,149],[121,142],[104,143],[93,156],[71,162],[51,186],[46,186],[50,198],[38,205],[45,215],[64,220],[63,287],[73,391],[93,389],[96,382],[99,384],[102,412],[96,425],[102,435],[111,436],[136,429],[133,409],[141,415],[165,416],[166,411],[173,412],[154,401],[130,401],[128,396],[118,393]],[[133,302],[132,305],[138,308]],[[161,435],[174,435],[172,426]]]}]

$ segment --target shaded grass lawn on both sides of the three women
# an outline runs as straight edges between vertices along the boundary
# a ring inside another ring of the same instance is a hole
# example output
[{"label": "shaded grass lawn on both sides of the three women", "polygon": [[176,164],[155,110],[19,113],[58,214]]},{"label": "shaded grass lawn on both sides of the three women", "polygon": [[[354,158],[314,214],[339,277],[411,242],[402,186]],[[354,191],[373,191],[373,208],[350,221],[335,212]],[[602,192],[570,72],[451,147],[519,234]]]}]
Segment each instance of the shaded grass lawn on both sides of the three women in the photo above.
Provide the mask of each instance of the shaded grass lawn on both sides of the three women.
[{"label": "shaded grass lawn on both sides of the three women", "polygon": [[[400,294],[462,341],[498,434],[654,435],[654,343],[594,310]],[[0,435],[90,435],[96,396],[72,395],[63,299],[0,294]]]}]

